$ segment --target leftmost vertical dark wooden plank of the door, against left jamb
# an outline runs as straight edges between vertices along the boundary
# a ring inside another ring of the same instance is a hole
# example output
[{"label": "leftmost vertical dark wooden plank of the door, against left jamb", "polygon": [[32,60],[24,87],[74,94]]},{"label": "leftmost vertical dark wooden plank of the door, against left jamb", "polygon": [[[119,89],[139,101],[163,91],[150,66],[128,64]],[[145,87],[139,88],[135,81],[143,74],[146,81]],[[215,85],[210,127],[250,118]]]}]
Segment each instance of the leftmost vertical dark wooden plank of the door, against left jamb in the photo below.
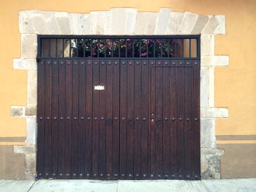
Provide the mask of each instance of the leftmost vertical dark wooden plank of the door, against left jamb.
[{"label": "leftmost vertical dark wooden plank of the door, against left jamb", "polygon": [[38,62],[38,88],[37,88],[37,153],[36,171],[38,178],[44,178],[44,133],[45,133],[45,60]]}]

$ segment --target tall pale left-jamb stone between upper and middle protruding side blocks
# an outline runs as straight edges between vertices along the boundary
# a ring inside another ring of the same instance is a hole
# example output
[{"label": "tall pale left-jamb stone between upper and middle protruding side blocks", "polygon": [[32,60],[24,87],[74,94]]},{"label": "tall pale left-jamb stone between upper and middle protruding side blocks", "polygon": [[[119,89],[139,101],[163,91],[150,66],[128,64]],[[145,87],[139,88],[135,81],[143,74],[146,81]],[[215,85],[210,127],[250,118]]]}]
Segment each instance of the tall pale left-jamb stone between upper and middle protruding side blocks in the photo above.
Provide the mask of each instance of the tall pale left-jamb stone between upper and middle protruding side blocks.
[{"label": "tall pale left-jamb stone between upper and middle protruding side blocks", "polygon": [[28,70],[27,81],[27,105],[36,106],[37,104],[37,70]]}]

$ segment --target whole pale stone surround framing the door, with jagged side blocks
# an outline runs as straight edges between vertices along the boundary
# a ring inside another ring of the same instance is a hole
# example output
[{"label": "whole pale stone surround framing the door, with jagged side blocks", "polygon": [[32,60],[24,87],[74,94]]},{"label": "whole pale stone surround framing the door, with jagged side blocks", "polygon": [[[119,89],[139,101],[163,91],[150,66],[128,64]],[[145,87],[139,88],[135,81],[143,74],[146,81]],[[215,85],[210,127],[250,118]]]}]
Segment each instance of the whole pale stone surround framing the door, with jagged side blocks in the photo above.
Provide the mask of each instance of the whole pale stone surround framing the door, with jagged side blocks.
[{"label": "whole pale stone surround framing the door, with jagged side blocks", "polygon": [[36,105],[38,35],[200,35],[200,147],[202,179],[220,179],[220,156],[216,148],[215,119],[227,118],[227,108],[214,106],[214,68],[228,66],[228,56],[214,54],[215,35],[225,35],[225,15],[197,15],[173,12],[138,12],[136,8],[67,13],[29,10],[19,12],[21,58],[13,59],[14,69],[28,72],[27,105],[11,106],[11,116],[26,118],[26,145],[14,146],[24,154],[25,179],[36,176]]}]

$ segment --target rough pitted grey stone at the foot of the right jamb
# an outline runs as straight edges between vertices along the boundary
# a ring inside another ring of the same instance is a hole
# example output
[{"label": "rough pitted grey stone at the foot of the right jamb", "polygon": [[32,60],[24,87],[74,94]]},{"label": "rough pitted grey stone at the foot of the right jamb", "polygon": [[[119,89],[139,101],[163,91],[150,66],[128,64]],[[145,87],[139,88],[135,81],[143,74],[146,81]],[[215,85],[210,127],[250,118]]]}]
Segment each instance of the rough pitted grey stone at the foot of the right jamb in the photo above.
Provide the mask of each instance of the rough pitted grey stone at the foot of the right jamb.
[{"label": "rough pitted grey stone at the foot of the right jamb", "polygon": [[220,179],[221,149],[201,148],[201,177],[202,179]]}]

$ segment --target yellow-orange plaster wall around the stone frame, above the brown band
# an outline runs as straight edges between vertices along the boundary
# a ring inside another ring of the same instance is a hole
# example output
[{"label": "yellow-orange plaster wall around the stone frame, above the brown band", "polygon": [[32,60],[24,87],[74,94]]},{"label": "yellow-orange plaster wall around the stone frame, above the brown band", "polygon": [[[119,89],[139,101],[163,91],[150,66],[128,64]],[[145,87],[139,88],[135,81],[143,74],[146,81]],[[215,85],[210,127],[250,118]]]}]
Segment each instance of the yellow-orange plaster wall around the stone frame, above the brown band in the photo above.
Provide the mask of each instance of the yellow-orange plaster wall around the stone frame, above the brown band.
[{"label": "yellow-orange plaster wall around the stone frame, above the brown band", "polygon": [[26,105],[26,71],[13,70],[20,58],[19,10],[90,12],[133,7],[159,12],[226,15],[224,36],[216,36],[216,54],[228,54],[230,67],[215,70],[216,107],[228,107],[229,118],[216,120],[216,134],[256,134],[256,1],[253,0],[0,0],[0,137],[26,136],[26,121],[10,117],[11,105]]}]

